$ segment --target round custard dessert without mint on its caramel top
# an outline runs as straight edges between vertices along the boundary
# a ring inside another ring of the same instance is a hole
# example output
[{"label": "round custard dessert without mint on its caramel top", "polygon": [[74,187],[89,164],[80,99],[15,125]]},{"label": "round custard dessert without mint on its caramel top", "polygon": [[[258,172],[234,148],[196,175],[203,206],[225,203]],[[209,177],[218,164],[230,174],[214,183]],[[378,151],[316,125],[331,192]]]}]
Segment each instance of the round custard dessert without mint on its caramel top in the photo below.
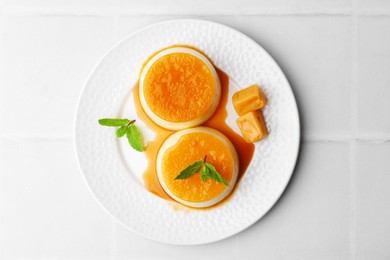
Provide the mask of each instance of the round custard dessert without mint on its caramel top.
[{"label": "round custard dessert without mint on its caramel top", "polygon": [[154,55],[141,71],[139,86],[146,114],[171,130],[204,123],[221,97],[214,66],[201,53],[185,47],[168,48]]}]

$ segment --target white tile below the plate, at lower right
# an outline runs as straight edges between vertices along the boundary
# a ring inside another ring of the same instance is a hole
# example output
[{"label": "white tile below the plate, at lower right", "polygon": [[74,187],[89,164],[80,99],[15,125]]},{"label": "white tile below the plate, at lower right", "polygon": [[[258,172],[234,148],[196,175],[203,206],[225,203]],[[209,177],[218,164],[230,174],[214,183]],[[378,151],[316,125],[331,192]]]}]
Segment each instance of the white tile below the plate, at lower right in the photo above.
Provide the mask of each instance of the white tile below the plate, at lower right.
[{"label": "white tile below the plate, at lower right", "polygon": [[170,246],[117,225],[115,259],[348,259],[349,152],[347,143],[304,143],[278,204],[248,230],[217,243]]}]

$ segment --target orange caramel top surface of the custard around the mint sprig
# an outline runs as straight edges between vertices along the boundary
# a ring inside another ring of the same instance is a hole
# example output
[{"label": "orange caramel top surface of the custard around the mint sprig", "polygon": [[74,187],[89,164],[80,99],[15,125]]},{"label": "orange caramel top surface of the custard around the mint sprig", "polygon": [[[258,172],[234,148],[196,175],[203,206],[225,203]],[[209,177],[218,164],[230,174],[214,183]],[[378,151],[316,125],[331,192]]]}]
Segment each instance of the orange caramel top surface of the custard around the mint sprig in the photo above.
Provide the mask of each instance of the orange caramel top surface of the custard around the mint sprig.
[{"label": "orange caramel top surface of the custard around the mint sprig", "polygon": [[163,179],[172,194],[188,202],[205,202],[217,197],[227,188],[211,179],[203,182],[199,172],[188,179],[175,180],[183,169],[202,160],[206,155],[207,162],[230,183],[234,174],[234,159],[229,147],[212,134],[193,132],[181,136],[163,155]]}]

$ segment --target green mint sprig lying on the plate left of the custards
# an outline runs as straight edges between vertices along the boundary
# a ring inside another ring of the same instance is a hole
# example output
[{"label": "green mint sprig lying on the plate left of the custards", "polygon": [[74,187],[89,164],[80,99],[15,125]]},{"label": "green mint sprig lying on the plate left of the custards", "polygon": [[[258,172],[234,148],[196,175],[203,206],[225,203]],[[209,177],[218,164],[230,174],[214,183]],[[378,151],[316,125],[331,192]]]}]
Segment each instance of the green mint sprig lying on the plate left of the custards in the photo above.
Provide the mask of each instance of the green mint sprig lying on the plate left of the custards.
[{"label": "green mint sprig lying on the plate left of the custards", "polygon": [[116,130],[116,136],[118,138],[126,135],[127,140],[131,147],[138,152],[143,152],[143,137],[141,131],[134,125],[135,120],[120,119],[120,118],[102,118],[99,119],[99,124],[102,126],[118,127]]}]

